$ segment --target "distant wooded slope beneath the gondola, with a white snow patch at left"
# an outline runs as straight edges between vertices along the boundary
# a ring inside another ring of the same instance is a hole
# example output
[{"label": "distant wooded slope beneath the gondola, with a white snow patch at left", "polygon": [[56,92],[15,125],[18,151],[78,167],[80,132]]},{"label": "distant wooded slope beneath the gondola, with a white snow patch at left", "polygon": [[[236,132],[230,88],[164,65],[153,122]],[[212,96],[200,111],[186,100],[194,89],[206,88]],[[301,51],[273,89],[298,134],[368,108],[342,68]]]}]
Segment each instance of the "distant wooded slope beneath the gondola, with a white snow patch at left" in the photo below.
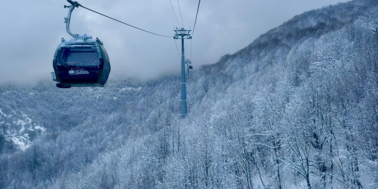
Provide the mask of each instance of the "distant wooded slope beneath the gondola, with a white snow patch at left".
[{"label": "distant wooded slope beneath the gondola, with a white snow patch at left", "polygon": [[0,89],[0,153],[25,150],[46,131],[70,130],[89,115],[113,112],[144,93],[150,93],[149,89],[125,81],[110,81],[105,88],[70,90],[51,82],[30,88],[4,86]]}]

